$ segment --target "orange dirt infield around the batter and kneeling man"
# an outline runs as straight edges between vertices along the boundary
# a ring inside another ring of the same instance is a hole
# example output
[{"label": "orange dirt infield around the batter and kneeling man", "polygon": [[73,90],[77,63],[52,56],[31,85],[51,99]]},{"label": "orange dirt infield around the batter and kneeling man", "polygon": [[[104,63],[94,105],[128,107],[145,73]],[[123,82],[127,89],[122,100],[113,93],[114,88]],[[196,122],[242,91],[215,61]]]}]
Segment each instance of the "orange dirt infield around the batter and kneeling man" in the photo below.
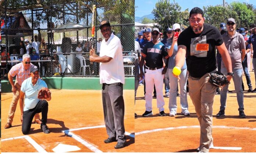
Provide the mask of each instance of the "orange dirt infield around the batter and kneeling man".
[{"label": "orange dirt infield around the batter and kneeling man", "polygon": [[51,133],[44,134],[39,124],[32,124],[29,135],[23,135],[21,132],[19,105],[13,127],[4,129],[12,93],[2,93],[1,152],[54,152],[54,147],[60,143],[81,149],[72,152],[135,151],[134,90],[124,90],[127,146],[123,149],[114,149],[117,142],[103,142],[108,136],[104,125],[101,90],[51,91],[47,121]]}]

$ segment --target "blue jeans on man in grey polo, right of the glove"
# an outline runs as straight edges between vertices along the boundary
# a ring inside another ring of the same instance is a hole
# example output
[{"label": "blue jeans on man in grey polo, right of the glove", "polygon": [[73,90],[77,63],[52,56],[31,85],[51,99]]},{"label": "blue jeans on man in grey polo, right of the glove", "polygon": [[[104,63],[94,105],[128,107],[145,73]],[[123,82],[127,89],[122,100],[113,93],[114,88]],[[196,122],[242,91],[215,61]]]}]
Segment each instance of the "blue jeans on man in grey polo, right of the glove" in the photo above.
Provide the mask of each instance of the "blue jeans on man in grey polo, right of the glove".
[{"label": "blue jeans on man in grey polo, right of the glove", "polygon": [[[242,68],[232,69],[234,72],[234,76],[232,77],[235,85],[235,91],[237,92],[237,102],[238,102],[238,110],[243,111],[243,89],[242,89]],[[221,68],[221,72],[227,75],[227,69],[224,67]],[[226,101],[227,101],[227,92],[228,92],[228,85],[223,87],[220,91],[220,110],[225,110],[226,108]]]}]

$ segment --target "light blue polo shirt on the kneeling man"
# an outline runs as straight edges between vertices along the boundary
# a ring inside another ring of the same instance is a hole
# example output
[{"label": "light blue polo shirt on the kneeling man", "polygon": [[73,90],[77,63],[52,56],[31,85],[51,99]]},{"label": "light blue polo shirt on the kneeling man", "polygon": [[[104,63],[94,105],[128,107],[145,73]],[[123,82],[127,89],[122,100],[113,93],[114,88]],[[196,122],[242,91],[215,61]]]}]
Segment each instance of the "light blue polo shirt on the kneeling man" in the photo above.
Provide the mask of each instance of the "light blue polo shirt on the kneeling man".
[{"label": "light blue polo shirt on the kneeling man", "polygon": [[22,82],[21,91],[25,93],[25,106],[23,111],[33,109],[36,107],[36,104],[38,104],[38,102],[41,100],[37,98],[39,90],[43,87],[47,88],[47,85],[45,81],[41,79],[38,79],[35,86],[33,86],[32,84],[32,77]]}]

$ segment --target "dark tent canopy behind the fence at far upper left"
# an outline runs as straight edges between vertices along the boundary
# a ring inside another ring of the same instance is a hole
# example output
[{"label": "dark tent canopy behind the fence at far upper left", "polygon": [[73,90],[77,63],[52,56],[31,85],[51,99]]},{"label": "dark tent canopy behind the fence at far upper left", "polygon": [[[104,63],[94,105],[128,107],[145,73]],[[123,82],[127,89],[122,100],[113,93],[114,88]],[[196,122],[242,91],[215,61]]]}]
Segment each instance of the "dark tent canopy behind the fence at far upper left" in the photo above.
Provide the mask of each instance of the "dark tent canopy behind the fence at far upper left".
[{"label": "dark tent canopy behind the fence at far upper left", "polygon": [[[31,27],[28,25],[28,22],[26,21],[24,15],[22,12],[18,12],[17,14],[7,16],[1,18],[2,24],[1,24],[1,35],[2,37],[4,35],[9,36],[29,36],[33,35],[32,30],[22,30],[22,29],[31,29]],[[7,27],[6,24],[7,23]],[[5,31],[3,29],[17,29],[17,30],[8,30]]]}]

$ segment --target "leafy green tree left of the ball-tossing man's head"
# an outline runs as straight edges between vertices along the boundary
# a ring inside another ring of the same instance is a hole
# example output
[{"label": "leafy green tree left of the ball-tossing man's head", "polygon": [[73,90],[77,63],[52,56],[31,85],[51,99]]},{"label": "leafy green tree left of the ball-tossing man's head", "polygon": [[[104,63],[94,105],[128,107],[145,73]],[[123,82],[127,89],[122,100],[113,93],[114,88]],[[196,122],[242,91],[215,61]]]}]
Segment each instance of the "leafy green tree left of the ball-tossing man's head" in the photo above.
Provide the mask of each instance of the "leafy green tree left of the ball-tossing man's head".
[{"label": "leafy green tree left of the ball-tossing man's head", "polygon": [[159,24],[160,31],[172,27],[174,23],[181,23],[181,7],[178,3],[170,3],[170,0],[159,0],[153,9],[154,22]]}]

